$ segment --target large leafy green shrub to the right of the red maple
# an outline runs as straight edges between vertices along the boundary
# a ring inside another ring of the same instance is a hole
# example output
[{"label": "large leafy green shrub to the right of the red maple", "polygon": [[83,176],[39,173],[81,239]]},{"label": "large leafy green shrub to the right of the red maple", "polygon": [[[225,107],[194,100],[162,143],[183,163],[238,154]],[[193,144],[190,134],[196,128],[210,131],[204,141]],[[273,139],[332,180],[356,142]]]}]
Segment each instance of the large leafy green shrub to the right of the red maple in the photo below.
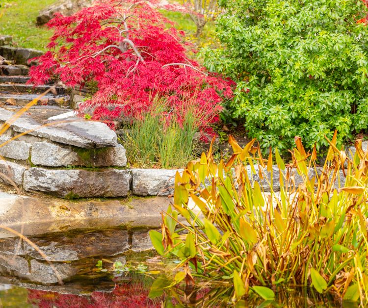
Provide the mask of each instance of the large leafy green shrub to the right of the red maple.
[{"label": "large leafy green shrub to the right of the red maple", "polygon": [[[237,81],[227,106],[262,147],[294,136],[317,149],[368,128],[368,30],[361,0],[228,0],[217,19],[223,49],[205,65]],[[248,93],[249,89],[249,93]]]}]

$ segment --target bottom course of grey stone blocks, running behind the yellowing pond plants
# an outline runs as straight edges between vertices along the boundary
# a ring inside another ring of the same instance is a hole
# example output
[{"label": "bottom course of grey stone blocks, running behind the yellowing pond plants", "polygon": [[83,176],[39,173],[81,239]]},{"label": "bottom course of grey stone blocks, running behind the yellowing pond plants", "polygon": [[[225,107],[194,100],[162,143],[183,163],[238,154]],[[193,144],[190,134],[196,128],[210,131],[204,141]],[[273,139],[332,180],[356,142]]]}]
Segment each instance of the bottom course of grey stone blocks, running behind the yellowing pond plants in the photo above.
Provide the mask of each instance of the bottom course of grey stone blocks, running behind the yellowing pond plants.
[{"label": "bottom course of grey stone blocks, running behind the yellowing pond plants", "polygon": [[[317,169],[318,172],[319,169]],[[23,186],[26,191],[45,192],[53,196],[78,199],[93,197],[126,197],[129,194],[137,196],[167,196],[174,192],[176,172],[183,170],[169,169],[46,169],[39,167],[28,168],[17,163],[0,161],[0,180],[7,184],[13,181]],[[256,173],[252,173],[247,166],[248,176],[259,182],[263,191],[270,191],[269,182],[271,173],[262,170],[263,179],[259,176],[258,166]],[[285,173],[286,171],[283,171]],[[289,178],[293,178],[296,187],[303,182],[296,169],[288,170]],[[309,178],[315,176],[315,170],[310,169]],[[273,166],[273,191],[280,191],[279,169]],[[340,185],[344,186],[345,177],[339,173]],[[10,180],[9,180],[10,179]],[[336,187],[339,180],[336,181]],[[210,183],[207,183],[210,185]],[[291,182],[289,183],[291,184]],[[236,185],[237,187],[237,185]],[[337,187],[338,188],[338,187]]]}]

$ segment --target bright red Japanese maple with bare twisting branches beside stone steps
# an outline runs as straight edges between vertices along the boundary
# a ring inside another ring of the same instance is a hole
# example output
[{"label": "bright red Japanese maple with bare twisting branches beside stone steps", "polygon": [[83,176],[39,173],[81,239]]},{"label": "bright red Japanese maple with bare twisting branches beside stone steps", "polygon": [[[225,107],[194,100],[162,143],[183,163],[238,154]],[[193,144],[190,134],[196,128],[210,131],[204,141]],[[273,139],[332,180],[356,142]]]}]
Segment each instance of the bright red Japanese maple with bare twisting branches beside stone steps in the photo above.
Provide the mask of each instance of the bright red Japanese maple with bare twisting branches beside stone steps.
[{"label": "bright red Japanese maple with bare twisting branches beside stone steps", "polygon": [[204,119],[216,119],[233,82],[187,56],[184,33],[160,7],[157,0],[99,0],[70,17],[55,14],[48,24],[51,51],[31,68],[30,82],[43,84],[55,75],[72,87],[97,82],[98,91],[81,108],[94,110],[93,119],[137,116],[157,95],[169,101],[171,115],[194,102]]}]

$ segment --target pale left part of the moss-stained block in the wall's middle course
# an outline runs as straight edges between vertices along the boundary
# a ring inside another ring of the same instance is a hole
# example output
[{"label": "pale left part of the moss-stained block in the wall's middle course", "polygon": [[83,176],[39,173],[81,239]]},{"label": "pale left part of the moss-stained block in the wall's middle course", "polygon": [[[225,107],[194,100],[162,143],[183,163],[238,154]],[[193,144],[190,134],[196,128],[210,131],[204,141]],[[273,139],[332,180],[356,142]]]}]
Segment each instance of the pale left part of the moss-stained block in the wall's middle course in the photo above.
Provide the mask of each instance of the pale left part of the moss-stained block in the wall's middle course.
[{"label": "pale left part of the moss-stained block in the wall's middle course", "polygon": [[35,165],[59,167],[79,165],[79,157],[71,147],[61,147],[50,142],[36,142],[32,146],[31,162]]}]

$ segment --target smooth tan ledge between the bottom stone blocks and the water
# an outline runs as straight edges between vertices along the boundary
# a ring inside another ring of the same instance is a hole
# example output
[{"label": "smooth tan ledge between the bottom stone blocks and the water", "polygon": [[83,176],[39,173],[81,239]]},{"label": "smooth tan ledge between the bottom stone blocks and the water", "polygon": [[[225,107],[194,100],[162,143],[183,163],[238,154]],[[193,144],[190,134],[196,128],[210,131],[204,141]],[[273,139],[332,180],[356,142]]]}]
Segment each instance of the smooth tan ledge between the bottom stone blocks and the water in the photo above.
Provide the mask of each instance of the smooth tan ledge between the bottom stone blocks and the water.
[{"label": "smooth tan ledge between the bottom stone blocks and the water", "polygon": [[[160,212],[170,201],[167,197],[67,201],[0,192],[0,224],[24,235],[121,225],[159,228]],[[0,229],[0,238],[12,236]]]}]

